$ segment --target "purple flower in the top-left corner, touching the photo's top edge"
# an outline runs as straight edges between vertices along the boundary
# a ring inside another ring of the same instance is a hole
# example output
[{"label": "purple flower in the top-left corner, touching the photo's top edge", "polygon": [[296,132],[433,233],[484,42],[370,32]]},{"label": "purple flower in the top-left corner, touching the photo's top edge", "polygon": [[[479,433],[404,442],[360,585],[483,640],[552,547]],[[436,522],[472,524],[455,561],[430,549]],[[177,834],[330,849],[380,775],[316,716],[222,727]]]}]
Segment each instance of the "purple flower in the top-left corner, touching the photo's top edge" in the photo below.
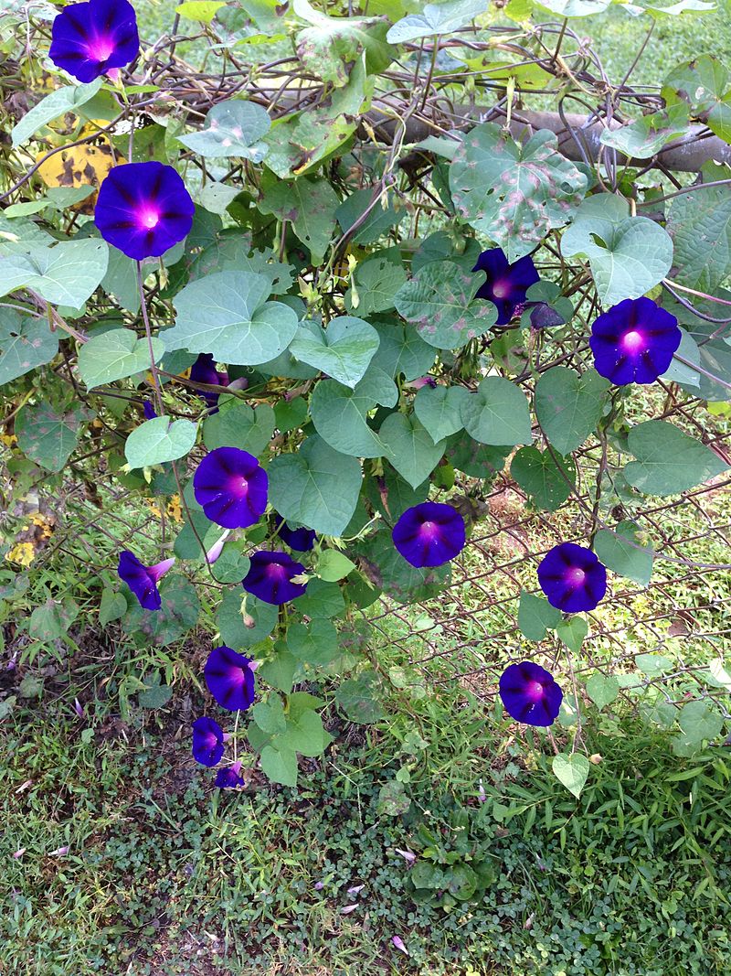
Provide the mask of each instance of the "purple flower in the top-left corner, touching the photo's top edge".
[{"label": "purple flower in the top-left corner, touching the photo's top edge", "polygon": [[137,51],[135,8],[127,0],[69,4],[51,28],[51,61],[79,81],[124,67],[135,61]]}]

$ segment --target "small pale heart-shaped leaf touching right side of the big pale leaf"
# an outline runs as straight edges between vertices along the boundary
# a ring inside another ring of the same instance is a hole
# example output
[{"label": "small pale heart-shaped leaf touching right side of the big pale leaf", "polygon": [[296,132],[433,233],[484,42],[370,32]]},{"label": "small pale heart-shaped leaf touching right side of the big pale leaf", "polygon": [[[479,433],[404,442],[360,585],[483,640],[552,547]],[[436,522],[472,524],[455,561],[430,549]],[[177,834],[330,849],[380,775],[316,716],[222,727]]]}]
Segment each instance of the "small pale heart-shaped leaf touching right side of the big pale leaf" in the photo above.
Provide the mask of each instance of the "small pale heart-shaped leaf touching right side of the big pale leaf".
[{"label": "small pale heart-shaped leaf touching right side of the big pale leaf", "polygon": [[289,350],[295,358],[353,388],[363,379],[378,345],[372,326],[362,318],[341,315],[316,333],[300,326]]}]

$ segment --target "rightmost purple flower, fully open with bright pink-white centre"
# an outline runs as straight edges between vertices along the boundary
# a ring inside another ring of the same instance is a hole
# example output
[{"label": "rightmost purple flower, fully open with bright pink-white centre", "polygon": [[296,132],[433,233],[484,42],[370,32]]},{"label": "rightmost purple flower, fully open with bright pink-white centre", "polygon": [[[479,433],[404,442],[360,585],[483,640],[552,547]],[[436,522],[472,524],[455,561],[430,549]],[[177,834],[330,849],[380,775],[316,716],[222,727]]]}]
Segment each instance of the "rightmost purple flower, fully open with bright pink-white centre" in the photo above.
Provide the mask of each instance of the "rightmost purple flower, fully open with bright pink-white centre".
[{"label": "rightmost purple flower, fully open with bright pink-white centre", "polygon": [[615,386],[654,383],[668,369],[682,333],[677,319],[651,299],[625,299],[592,326],[596,372]]}]

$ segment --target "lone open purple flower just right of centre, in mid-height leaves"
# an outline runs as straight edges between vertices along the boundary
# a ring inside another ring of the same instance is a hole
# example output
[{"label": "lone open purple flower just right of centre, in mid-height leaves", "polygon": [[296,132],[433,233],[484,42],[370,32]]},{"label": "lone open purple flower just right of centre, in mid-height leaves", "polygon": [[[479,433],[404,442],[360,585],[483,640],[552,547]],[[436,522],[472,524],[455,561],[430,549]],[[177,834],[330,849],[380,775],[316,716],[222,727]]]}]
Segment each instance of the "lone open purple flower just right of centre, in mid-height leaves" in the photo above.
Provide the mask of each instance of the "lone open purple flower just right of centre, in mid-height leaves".
[{"label": "lone open purple flower just right of centre, in mid-height leaves", "polygon": [[394,526],[394,546],[412,566],[442,566],[465,545],[465,523],[456,508],[422,502],[406,508]]}]

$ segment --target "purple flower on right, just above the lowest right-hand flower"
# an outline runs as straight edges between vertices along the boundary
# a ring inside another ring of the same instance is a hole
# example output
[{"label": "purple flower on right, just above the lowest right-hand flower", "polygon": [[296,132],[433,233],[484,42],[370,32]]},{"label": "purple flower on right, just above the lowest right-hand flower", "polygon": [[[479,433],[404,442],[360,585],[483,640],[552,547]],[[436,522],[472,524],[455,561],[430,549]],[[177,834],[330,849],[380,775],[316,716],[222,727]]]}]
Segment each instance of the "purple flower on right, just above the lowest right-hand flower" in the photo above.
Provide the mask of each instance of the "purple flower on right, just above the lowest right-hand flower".
[{"label": "purple flower on right, just above the lowest right-hand flower", "polygon": [[591,549],[561,543],[541,560],[538,582],[549,603],[558,610],[594,610],[606,592],[606,569]]}]

